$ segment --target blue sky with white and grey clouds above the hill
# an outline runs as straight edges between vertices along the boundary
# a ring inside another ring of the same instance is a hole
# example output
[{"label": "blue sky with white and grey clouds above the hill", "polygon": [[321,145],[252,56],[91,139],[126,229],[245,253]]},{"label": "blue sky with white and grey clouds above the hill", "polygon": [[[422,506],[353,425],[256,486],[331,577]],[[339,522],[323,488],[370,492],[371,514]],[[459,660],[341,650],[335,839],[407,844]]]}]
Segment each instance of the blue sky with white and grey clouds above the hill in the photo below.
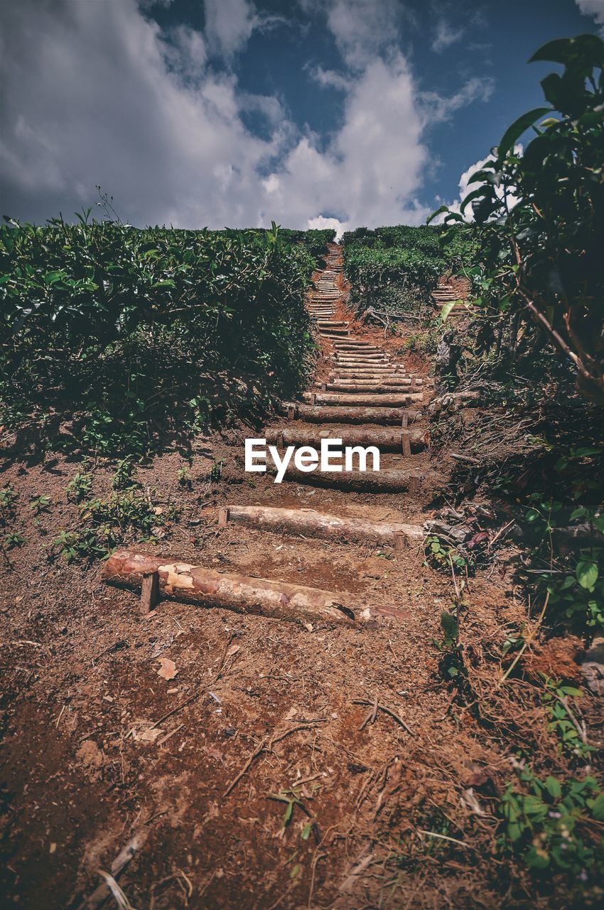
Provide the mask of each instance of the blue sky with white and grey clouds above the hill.
[{"label": "blue sky with white and grey clouds above the hill", "polygon": [[0,0],[0,213],[421,224],[585,32],[604,0]]}]

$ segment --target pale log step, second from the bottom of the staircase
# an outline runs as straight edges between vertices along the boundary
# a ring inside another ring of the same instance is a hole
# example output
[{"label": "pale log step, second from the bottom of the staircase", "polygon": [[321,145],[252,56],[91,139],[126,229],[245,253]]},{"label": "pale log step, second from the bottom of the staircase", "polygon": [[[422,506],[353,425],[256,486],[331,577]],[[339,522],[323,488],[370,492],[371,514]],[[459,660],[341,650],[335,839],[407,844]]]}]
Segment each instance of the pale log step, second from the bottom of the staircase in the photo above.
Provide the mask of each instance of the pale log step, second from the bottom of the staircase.
[{"label": "pale log step, second from the bottom of the staircase", "polygon": [[227,506],[218,512],[218,524],[225,527],[228,521],[237,521],[261,531],[300,534],[322,541],[353,541],[377,543],[380,546],[403,550],[418,544],[425,532],[420,525],[398,521],[364,521],[358,518],[340,518],[314,509],[275,509],[269,506]]}]

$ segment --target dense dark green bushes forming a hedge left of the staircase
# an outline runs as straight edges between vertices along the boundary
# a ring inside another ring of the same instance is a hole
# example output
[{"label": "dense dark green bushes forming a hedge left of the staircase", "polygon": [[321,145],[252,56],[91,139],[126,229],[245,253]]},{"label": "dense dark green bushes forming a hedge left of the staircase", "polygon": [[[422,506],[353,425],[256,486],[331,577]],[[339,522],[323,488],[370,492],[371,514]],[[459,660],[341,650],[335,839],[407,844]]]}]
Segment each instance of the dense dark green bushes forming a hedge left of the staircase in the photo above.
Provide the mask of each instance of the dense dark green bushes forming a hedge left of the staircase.
[{"label": "dense dark green bushes forming a hedge left of the staircase", "polygon": [[7,221],[0,422],[41,424],[55,448],[145,451],[296,389],[304,294],[332,238]]}]

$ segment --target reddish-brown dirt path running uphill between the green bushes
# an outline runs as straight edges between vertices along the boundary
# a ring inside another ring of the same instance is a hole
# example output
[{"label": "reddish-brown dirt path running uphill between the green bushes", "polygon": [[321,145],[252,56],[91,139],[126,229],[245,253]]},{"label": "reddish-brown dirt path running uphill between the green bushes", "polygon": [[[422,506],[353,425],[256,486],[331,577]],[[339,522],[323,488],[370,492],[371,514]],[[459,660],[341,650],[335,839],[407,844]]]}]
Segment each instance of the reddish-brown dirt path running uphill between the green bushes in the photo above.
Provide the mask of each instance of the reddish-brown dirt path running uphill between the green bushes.
[{"label": "reddish-brown dirt path running uphill between the green bushes", "polygon": [[[365,439],[390,430],[382,469],[396,472],[399,489],[335,487],[313,474],[250,480],[241,439],[208,441],[199,476],[220,459],[222,481],[196,483],[194,471],[194,492],[177,494],[188,520],[166,551],[349,591],[379,607],[377,618],[296,624],[169,601],[141,617],[136,597],[107,588],[100,569],[49,568],[45,541],[28,544],[7,573],[2,613],[6,905],[81,905],[133,835],[140,847],[116,877],[138,910],[496,905],[488,885],[475,893],[492,860],[463,844],[464,825],[481,823],[458,784],[508,765],[469,713],[448,713],[432,640],[450,579],[423,564],[417,541],[395,549],[232,516],[218,524],[220,510],[253,505],[416,526],[428,517],[442,470],[410,431],[427,426],[430,383],[378,331],[341,324],[351,317],[340,270],[334,246],[309,300],[323,353],[317,385],[271,429],[302,440],[337,427]],[[409,411],[419,413],[409,420]],[[166,456],[145,482],[174,485],[177,466]],[[40,467],[11,470],[24,495],[47,480]],[[55,471],[63,487],[73,469]],[[69,514],[57,506],[53,524]],[[476,581],[472,599],[469,622],[483,632],[499,610],[521,615],[500,573]],[[158,675],[162,660],[174,662],[171,679]]]}]

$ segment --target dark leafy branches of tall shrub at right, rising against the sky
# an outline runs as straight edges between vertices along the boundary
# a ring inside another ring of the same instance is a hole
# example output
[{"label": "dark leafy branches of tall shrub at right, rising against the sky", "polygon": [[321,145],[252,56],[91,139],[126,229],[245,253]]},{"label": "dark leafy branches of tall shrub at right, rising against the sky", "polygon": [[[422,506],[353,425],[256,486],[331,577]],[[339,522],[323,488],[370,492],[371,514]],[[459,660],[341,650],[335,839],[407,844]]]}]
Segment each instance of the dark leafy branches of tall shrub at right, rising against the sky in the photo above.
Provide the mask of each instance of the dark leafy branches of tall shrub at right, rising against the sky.
[{"label": "dark leafy branches of tall shrub at right, rising against the sky", "polygon": [[[460,229],[478,237],[468,274],[482,309],[483,349],[518,359],[549,343],[583,394],[602,403],[604,42],[561,38],[532,59],[563,66],[541,81],[549,106],[508,128],[461,206],[471,206],[476,225],[460,228],[461,216],[449,211],[443,240]],[[536,135],[520,154],[516,142],[530,126]]]}]

